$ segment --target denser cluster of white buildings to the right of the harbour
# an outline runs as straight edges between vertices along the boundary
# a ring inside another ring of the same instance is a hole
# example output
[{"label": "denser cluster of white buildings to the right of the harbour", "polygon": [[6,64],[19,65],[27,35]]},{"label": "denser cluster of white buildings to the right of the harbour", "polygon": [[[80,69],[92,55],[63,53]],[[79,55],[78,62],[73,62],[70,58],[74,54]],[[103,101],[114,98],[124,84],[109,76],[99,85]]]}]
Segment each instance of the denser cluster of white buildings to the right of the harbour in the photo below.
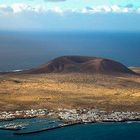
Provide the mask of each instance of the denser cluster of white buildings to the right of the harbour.
[{"label": "denser cluster of white buildings to the right of the harbour", "polygon": [[140,120],[138,112],[105,112],[97,109],[60,109],[59,117],[70,122],[120,122]]}]

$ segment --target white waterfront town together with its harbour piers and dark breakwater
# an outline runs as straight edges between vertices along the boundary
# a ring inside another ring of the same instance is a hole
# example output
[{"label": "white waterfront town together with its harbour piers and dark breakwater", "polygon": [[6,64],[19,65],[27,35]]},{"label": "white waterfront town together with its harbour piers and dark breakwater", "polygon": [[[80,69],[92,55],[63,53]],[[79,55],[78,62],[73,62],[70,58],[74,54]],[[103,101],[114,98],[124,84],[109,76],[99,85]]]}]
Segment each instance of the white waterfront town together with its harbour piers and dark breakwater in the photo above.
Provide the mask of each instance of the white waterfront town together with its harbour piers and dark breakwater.
[{"label": "white waterfront town together with its harbour piers and dark breakwater", "polygon": [[[59,129],[63,127],[78,125],[78,124],[94,124],[94,123],[124,123],[124,122],[140,122],[140,112],[106,112],[98,109],[58,109],[48,110],[48,109],[38,109],[38,110],[24,110],[24,111],[15,111],[15,112],[0,112],[1,121],[14,121],[16,119],[32,119],[32,118],[42,118],[49,119],[54,118],[57,121],[52,121],[53,126],[47,128],[42,128],[35,131],[29,132],[16,132],[14,135],[27,135],[33,133],[40,133],[43,131],[49,131],[54,129]],[[55,124],[60,122],[60,124]],[[28,124],[29,125],[29,124]],[[28,128],[28,125],[26,126]],[[22,124],[21,124],[22,126]],[[26,128],[25,127],[25,128]],[[13,124],[0,126],[3,130],[22,130],[23,127]]]}]

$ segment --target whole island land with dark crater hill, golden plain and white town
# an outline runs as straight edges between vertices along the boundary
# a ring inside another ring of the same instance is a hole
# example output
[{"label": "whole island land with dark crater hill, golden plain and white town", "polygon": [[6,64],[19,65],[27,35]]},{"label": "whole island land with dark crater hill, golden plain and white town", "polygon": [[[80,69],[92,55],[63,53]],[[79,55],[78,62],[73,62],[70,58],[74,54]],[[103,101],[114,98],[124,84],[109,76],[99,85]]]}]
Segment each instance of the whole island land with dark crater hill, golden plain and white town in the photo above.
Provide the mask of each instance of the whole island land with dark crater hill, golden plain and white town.
[{"label": "whole island land with dark crater hill, golden plain and white town", "polygon": [[30,70],[1,73],[0,119],[139,120],[139,72],[110,59],[62,56]]}]

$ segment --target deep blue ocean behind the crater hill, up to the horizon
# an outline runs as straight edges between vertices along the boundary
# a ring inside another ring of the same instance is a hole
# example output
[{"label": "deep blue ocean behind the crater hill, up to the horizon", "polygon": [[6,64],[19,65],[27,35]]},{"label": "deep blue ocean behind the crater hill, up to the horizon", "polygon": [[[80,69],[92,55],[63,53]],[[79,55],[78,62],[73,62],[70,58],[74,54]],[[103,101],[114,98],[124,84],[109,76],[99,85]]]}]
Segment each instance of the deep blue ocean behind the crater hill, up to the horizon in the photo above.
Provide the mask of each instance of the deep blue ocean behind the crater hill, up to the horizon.
[{"label": "deep blue ocean behind the crater hill, up to the horizon", "polygon": [[0,71],[30,69],[63,55],[99,56],[140,66],[140,33],[0,32]]}]

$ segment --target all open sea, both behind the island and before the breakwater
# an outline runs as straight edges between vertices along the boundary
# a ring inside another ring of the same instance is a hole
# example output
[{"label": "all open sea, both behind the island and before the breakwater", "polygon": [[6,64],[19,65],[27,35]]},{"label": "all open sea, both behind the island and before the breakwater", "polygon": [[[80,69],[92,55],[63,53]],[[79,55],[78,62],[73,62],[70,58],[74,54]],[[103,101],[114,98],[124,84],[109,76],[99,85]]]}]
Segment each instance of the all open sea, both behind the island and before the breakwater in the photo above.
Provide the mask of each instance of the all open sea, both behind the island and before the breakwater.
[{"label": "all open sea, both behind the island and before the breakwater", "polygon": [[[62,55],[100,56],[140,66],[140,33],[0,32],[0,71],[30,69]],[[76,125],[28,136],[0,130],[0,140],[31,139],[140,140],[140,123]]]}]

